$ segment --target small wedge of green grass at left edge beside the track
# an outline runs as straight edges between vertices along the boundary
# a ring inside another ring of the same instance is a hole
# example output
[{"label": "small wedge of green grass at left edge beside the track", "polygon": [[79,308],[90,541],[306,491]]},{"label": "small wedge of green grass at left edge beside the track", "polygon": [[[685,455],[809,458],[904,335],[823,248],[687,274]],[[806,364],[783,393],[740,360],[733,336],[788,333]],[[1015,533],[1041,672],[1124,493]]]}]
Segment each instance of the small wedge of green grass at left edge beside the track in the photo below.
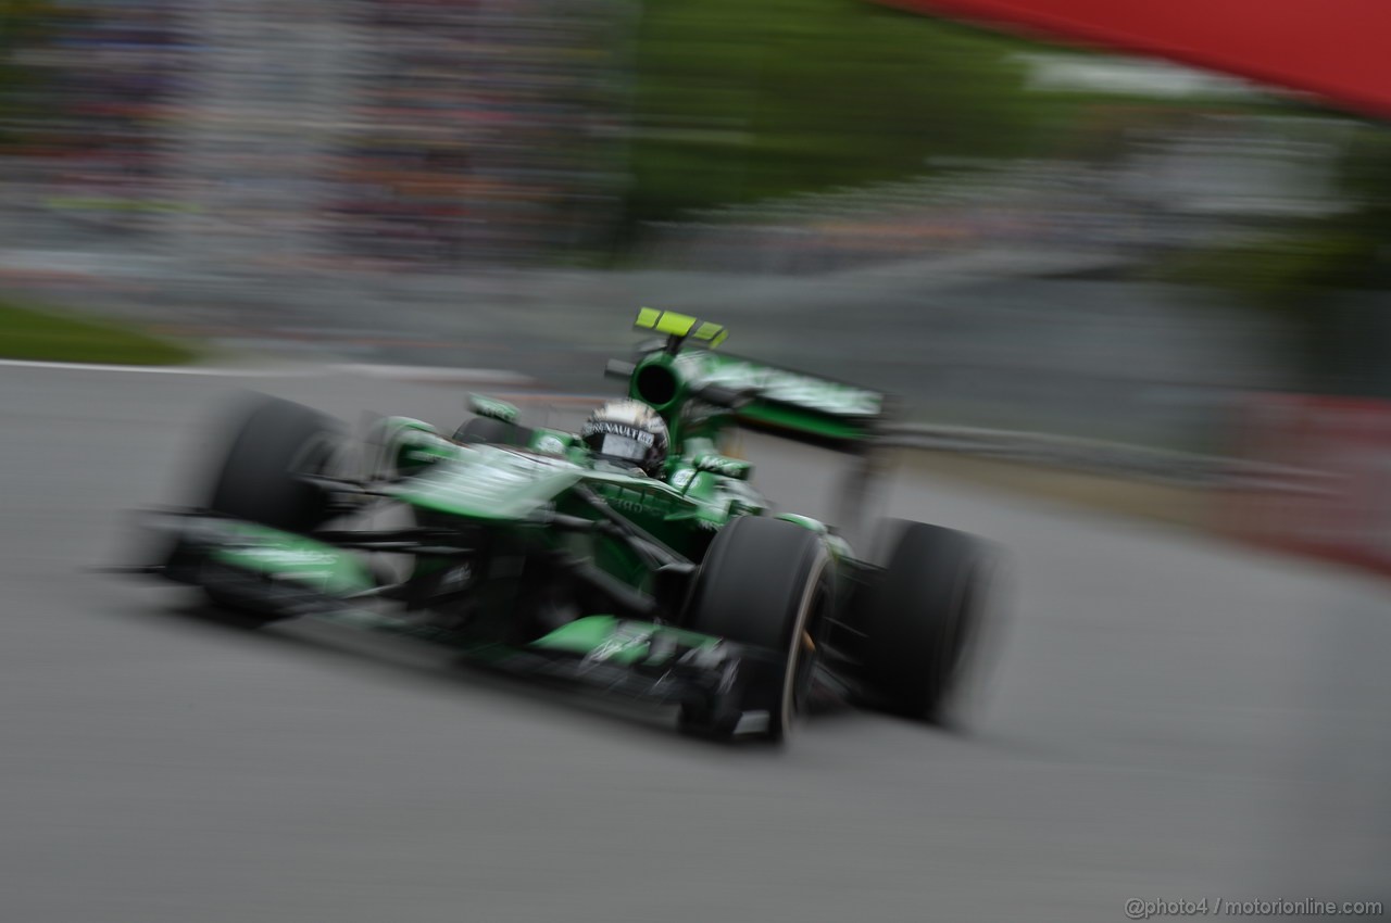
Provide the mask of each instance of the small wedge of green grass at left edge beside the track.
[{"label": "small wedge of green grass at left edge beside the track", "polygon": [[177,343],[108,321],[0,296],[0,359],[174,366],[193,359]]}]

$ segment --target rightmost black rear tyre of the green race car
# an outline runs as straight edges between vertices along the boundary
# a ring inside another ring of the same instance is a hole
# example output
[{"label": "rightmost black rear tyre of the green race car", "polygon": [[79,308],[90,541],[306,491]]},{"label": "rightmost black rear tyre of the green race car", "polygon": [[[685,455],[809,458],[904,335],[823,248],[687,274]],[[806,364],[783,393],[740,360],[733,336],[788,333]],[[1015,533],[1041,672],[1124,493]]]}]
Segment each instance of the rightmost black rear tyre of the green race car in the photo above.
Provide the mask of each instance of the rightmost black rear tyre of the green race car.
[{"label": "rightmost black rear tyre of the green race car", "polygon": [[947,724],[985,613],[989,555],[965,532],[894,523],[869,594],[865,666],[887,712]]}]

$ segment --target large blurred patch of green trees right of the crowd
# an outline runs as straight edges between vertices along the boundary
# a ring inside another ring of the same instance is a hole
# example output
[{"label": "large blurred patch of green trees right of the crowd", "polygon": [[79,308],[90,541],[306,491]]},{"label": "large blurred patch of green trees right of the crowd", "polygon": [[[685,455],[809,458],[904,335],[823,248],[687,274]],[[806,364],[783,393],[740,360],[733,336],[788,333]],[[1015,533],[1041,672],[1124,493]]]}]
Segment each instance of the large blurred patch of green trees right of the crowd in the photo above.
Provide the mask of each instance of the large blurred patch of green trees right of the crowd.
[{"label": "large blurred patch of green trees right of the crowd", "polygon": [[860,0],[644,0],[627,221],[1008,157],[1049,106],[1018,39]]}]

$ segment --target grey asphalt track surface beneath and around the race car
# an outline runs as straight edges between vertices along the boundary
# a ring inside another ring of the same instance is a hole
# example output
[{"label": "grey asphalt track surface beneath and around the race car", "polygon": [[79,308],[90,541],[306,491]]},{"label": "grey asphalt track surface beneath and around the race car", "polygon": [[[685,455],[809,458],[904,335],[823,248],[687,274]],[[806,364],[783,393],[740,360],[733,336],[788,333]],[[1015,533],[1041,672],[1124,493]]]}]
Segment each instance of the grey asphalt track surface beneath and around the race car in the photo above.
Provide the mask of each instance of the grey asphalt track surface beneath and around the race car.
[{"label": "grey asphalt track surface beneath and around the race car", "polygon": [[[0,919],[1121,920],[1128,898],[1391,897],[1381,584],[901,474],[893,513],[1008,552],[970,730],[847,712],[786,748],[715,745],[86,573],[136,553],[121,510],[179,499],[210,409],[248,385],[349,420],[463,417],[458,386],[0,367]],[[785,507],[830,509],[833,456],[748,452]]]}]

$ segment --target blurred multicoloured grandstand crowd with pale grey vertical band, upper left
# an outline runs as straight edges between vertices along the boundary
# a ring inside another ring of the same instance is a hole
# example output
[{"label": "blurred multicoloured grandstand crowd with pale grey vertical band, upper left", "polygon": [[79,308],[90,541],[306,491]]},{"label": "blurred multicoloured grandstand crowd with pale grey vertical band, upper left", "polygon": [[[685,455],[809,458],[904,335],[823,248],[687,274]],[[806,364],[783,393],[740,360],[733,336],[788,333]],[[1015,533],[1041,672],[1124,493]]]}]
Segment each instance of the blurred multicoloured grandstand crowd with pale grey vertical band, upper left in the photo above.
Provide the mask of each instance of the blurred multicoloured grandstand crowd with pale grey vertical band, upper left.
[{"label": "blurred multicoloured grandstand crowd with pale grey vertical band, upper left", "polygon": [[54,4],[42,43],[21,50],[42,118],[7,157],[7,202],[230,253],[536,259],[612,213],[615,13]]}]

